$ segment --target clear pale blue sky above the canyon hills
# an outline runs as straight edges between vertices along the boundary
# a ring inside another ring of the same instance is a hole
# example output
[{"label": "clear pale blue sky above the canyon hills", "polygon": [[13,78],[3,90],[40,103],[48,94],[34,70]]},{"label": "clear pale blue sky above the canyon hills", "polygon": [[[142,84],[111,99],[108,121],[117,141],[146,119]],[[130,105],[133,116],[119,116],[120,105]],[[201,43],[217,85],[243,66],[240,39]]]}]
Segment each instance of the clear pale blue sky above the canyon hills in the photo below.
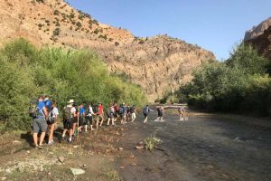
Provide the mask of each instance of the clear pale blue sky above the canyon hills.
[{"label": "clear pale blue sky above the canyon hills", "polygon": [[225,60],[245,32],[271,16],[271,0],[67,0],[135,36],[167,33]]}]

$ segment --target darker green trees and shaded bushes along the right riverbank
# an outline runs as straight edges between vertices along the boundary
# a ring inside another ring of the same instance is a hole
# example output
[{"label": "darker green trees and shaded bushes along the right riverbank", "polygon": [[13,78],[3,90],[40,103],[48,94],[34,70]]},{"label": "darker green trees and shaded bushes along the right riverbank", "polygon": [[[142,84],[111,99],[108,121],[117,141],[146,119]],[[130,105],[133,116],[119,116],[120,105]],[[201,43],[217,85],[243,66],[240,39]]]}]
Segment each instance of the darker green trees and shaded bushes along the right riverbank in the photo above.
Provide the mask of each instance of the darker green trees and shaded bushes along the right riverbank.
[{"label": "darker green trees and shaded bushes along the right riverbank", "polygon": [[[226,62],[204,64],[192,82],[177,91],[198,108],[271,115],[271,79],[267,61],[250,46],[240,44]],[[183,98],[182,98],[183,99]]]}]

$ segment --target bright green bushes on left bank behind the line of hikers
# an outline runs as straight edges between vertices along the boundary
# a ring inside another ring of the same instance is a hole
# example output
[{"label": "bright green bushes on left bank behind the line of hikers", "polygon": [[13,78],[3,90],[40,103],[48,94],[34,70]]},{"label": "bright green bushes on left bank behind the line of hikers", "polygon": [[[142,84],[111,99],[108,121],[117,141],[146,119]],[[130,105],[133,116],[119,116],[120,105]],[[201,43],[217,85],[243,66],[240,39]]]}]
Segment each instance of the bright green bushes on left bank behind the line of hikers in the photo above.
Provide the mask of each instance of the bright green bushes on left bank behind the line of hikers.
[{"label": "bright green bushes on left bank behind the line of hikers", "polygon": [[23,39],[0,50],[0,128],[30,129],[30,100],[48,94],[59,109],[67,100],[104,103],[125,101],[142,105],[142,90],[116,75],[110,75],[98,55],[91,51],[36,49]]}]

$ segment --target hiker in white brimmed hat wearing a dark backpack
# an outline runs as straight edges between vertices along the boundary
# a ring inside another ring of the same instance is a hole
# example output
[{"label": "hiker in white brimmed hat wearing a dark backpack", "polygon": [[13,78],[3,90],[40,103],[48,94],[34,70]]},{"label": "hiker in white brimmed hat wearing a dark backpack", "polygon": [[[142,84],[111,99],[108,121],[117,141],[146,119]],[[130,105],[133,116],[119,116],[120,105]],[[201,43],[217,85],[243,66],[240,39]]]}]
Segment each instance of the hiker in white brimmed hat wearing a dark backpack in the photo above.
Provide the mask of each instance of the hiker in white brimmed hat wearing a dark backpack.
[{"label": "hiker in white brimmed hat wearing a dark backpack", "polygon": [[71,143],[72,134],[73,134],[73,121],[76,118],[76,109],[73,107],[74,100],[70,100],[68,105],[63,110],[63,134],[62,139],[65,138],[66,132],[69,131],[69,139],[68,142]]}]

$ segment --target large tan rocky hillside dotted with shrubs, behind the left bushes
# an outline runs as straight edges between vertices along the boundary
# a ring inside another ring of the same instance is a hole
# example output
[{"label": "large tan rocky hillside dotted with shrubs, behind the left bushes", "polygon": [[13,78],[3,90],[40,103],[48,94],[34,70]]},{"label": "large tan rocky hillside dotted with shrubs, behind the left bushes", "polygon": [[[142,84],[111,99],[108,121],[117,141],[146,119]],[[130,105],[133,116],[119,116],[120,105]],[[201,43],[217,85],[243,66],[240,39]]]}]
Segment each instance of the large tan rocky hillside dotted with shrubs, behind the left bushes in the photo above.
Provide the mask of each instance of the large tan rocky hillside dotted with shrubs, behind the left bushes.
[{"label": "large tan rocky hillside dotted with shrubs, behind the left bushes", "polygon": [[139,38],[100,24],[63,0],[0,0],[0,25],[0,43],[23,37],[38,46],[95,50],[110,71],[140,85],[151,101],[190,81],[194,67],[215,59],[212,52],[166,35]]}]

